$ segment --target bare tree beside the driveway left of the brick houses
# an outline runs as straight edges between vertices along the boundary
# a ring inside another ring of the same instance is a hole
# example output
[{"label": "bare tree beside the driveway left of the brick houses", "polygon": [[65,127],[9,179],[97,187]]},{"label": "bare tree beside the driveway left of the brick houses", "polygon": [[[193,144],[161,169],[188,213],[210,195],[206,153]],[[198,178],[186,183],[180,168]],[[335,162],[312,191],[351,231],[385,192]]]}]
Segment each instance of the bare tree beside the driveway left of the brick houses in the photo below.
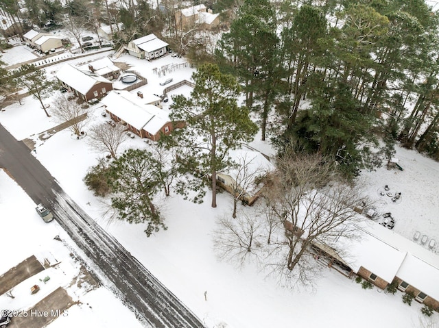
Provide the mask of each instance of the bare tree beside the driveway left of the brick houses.
[{"label": "bare tree beside the driveway left of the brick houses", "polygon": [[64,93],[54,99],[51,112],[60,122],[69,122],[69,129],[79,138],[86,123],[87,107],[78,103],[77,99],[69,100]]}]

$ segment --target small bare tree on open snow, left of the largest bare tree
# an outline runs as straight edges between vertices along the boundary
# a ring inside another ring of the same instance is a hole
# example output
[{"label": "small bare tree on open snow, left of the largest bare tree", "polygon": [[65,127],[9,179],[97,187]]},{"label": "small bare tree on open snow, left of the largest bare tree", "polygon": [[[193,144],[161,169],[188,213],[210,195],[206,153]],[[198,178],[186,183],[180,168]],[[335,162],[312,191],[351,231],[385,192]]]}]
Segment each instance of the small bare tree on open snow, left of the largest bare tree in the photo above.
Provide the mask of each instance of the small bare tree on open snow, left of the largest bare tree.
[{"label": "small bare tree on open snow, left of the largest bare tree", "polygon": [[243,265],[248,257],[259,257],[262,223],[258,216],[240,213],[236,219],[222,217],[214,233],[215,251],[222,260]]}]

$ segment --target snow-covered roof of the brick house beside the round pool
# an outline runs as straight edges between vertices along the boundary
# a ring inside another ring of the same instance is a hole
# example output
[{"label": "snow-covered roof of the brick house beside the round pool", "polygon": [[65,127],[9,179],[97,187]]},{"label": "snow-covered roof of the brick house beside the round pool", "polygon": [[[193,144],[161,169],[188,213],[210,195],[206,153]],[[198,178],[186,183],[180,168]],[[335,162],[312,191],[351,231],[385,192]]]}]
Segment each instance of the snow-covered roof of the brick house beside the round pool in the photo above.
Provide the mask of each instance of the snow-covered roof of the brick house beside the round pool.
[{"label": "snow-covered roof of the brick house beside the round pool", "polygon": [[78,90],[82,94],[86,94],[98,82],[107,82],[111,84],[105,77],[95,73],[81,71],[79,68],[71,64],[65,64],[60,68],[56,77],[63,81],[71,88]]}]

